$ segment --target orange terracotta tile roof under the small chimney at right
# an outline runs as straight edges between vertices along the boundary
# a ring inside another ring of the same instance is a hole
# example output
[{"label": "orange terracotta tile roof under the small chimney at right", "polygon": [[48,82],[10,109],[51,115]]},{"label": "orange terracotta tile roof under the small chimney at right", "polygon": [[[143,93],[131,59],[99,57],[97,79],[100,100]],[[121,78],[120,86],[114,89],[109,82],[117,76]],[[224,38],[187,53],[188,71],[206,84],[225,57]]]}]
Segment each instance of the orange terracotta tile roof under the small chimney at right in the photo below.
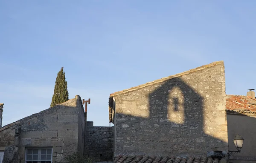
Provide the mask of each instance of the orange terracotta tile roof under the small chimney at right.
[{"label": "orange terracotta tile roof under the small chimney at right", "polygon": [[227,95],[226,110],[230,113],[256,114],[256,99],[242,95]]}]

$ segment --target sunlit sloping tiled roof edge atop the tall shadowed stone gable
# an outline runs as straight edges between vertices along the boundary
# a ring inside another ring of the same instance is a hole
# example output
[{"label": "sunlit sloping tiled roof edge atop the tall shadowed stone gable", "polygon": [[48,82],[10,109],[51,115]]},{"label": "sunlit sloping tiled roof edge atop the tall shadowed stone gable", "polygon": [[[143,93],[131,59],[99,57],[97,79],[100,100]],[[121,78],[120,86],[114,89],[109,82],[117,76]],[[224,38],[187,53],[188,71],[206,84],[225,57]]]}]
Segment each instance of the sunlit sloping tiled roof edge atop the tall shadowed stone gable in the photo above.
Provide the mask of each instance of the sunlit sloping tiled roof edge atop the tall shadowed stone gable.
[{"label": "sunlit sloping tiled roof edge atop the tall shadowed stone gable", "polygon": [[203,65],[203,66],[200,66],[200,67],[197,67],[197,68],[194,68],[194,69],[189,69],[188,71],[184,71],[184,72],[181,72],[181,73],[178,73],[178,74],[170,75],[168,77],[162,77],[161,79],[154,80],[154,81],[151,81],[151,82],[147,82],[147,83],[141,84],[139,86],[131,87],[129,89],[124,89],[124,90],[118,91],[118,92],[114,92],[114,93],[110,94],[110,97],[113,97],[113,96],[118,95],[118,94],[126,93],[126,92],[131,92],[131,91],[134,91],[136,89],[143,88],[145,86],[150,86],[150,85],[153,85],[153,84],[156,84],[156,83],[161,83],[161,82],[164,82],[166,80],[173,79],[175,77],[180,77],[180,76],[183,76],[185,74],[189,74],[189,73],[192,73],[192,72],[195,72],[195,71],[206,69],[206,68],[209,68],[209,67],[212,67],[212,66],[215,66],[215,65],[219,65],[219,64],[222,64],[222,63],[224,63],[223,60],[215,61],[215,62],[209,63],[207,65]]}]

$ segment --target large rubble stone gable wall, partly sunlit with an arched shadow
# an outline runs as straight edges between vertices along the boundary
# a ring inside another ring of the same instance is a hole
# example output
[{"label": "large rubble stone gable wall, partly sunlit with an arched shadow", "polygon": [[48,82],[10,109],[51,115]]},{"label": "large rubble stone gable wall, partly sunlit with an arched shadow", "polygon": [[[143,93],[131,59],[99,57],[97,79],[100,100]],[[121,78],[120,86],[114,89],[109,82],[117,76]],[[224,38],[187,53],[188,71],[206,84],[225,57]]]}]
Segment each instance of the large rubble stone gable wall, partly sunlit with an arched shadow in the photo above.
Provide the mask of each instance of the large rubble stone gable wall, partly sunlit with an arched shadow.
[{"label": "large rubble stone gable wall, partly sunlit with an arched shadow", "polygon": [[227,150],[224,63],[114,95],[114,155]]}]

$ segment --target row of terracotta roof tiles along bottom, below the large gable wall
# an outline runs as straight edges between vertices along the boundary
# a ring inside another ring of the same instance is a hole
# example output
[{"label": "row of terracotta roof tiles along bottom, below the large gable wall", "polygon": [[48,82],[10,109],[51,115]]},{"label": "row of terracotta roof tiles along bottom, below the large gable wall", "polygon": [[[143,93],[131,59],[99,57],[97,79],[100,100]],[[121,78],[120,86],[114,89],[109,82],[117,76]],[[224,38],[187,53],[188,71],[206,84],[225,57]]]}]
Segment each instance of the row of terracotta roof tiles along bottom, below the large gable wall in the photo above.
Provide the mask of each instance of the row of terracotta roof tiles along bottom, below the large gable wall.
[{"label": "row of terracotta roof tiles along bottom, below the large gable wall", "polygon": [[117,155],[114,163],[219,163],[219,159],[212,157],[174,157],[174,156],[126,156]]}]

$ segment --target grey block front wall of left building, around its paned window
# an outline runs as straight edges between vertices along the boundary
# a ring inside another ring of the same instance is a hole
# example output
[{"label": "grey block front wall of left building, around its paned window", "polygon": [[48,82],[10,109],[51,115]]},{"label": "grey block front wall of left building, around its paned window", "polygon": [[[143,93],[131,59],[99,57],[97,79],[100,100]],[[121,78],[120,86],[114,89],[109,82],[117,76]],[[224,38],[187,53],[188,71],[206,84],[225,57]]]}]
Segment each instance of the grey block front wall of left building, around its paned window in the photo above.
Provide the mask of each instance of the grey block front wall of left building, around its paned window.
[{"label": "grey block front wall of left building, around its paned window", "polygon": [[64,163],[65,156],[78,149],[83,151],[83,144],[78,146],[84,136],[82,131],[79,132],[79,128],[84,128],[80,114],[84,116],[81,99],[77,95],[74,99],[25,117],[18,124],[0,131],[0,135],[9,137],[8,140],[1,140],[0,146],[15,145],[19,163],[25,161],[25,147],[52,147],[53,163]]}]

